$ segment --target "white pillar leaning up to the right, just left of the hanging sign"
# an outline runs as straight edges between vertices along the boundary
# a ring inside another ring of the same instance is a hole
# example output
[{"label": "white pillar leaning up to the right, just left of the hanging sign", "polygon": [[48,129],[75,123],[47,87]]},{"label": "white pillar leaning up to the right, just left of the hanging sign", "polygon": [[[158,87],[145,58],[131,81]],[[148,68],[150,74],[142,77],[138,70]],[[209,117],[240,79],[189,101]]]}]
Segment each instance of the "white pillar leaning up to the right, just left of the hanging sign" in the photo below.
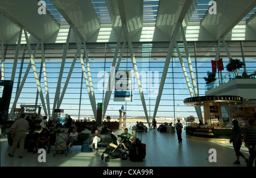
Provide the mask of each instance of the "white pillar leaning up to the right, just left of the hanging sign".
[{"label": "white pillar leaning up to the right, just left of the hanging sign", "polygon": [[108,105],[109,105],[109,100],[110,100],[112,90],[113,90],[113,86],[114,86],[114,82],[115,82],[115,78],[114,78],[115,70],[114,69],[115,69],[115,63],[117,61],[117,55],[118,55],[118,51],[119,51],[119,47],[120,47],[120,43],[121,43],[122,34],[123,34],[123,26],[121,27],[121,30],[120,30],[120,34],[119,34],[119,37],[118,37],[118,40],[117,40],[117,46],[115,47],[115,53],[114,53],[114,59],[113,59],[113,62],[112,62],[112,67],[110,69],[108,87],[107,87],[105,98],[104,98],[103,118],[105,117],[106,110],[107,110]]}]

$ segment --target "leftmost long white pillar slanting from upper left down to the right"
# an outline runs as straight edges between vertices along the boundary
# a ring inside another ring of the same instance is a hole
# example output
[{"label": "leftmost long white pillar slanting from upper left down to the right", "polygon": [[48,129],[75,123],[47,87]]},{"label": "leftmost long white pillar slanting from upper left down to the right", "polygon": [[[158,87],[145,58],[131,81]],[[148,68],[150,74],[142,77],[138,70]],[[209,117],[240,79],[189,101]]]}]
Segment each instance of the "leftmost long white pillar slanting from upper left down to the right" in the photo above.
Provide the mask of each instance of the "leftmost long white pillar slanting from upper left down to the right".
[{"label": "leftmost long white pillar slanting from upper left down to the right", "polygon": [[[36,70],[35,60],[34,60],[34,56],[32,55],[32,49],[31,49],[30,41],[29,41],[28,36],[27,36],[26,28],[24,28],[24,34],[25,34],[25,37],[26,37],[28,53],[30,54],[30,61],[31,61],[33,72],[34,72],[36,85],[38,86],[38,92],[39,92],[40,100],[42,102],[42,106],[43,106],[43,109],[44,109],[44,114],[47,115],[46,103],[44,102],[44,96],[43,96],[40,80],[39,80],[39,77],[38,77],[38,71]],[[40,44],[40,42],[39,42],[39,44]]]}]

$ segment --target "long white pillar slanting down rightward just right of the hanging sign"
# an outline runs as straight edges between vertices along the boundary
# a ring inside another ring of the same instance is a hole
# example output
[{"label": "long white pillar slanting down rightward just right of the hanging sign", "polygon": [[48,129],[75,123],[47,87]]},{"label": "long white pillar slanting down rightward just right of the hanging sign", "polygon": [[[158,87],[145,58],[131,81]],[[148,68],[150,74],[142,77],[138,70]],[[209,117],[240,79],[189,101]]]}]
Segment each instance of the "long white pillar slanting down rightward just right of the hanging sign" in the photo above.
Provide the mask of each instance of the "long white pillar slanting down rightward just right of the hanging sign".
[{"label": "long white pillar slanting down rightward just right of the hanging sign", "polygon": [[137,81],[137,84],[138,84],[139,94],[141,96],[141,102],[142,102],[143,110],[144,110],[144,113],[145,113],[145,117],[147,119],[148,127],[150,127],[150,122],[148,121],[147,106],[146,106],[146,102],[145,102],[145,98],[144,98],[144,94],[143,94],[141,79],[139,77],[139,71],[138,71],[137,62],[136,62],[134,51],[133,51],[133,45],[131,44],[131,39],[130,39],[127,23],[123,22],[122,26],[125,27],[124,28],[124,33],[125,33],[125,36],[127,38],[127,44],[129,46],[129,49],[130,49],[131,62],[133,63],[134,74],[135,74],[135,78],[136,78],[136,81]]}]

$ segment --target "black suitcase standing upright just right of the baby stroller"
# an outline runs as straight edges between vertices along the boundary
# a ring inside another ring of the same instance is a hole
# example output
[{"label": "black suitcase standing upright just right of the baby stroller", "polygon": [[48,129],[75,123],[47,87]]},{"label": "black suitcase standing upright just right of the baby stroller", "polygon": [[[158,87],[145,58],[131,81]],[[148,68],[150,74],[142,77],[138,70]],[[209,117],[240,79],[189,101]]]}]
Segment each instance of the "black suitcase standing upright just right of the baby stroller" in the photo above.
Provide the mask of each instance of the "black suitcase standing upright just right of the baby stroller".
[{"label": "black suitcase standing upright just right of the baby stroller", "polygon": [[146,156],[146,144],[131,144],[129,158],[131,162],[143,162]]}]

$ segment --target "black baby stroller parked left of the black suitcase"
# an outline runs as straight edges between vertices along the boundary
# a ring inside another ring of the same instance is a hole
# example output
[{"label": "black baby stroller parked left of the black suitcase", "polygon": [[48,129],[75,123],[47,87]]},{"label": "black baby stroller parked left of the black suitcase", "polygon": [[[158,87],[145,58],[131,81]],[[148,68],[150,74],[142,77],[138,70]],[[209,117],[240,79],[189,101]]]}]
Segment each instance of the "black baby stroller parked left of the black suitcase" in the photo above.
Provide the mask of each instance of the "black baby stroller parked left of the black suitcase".
[{"label": "black baby stroller parked left of the black suitcase", "polygon": [[110,143],[106,150],[101,155],[101,160],[104,160],[104,154],[107,154],[108,156],[105,157],[105,162],[109,162],[110,156],[112,158],[122,158],[122,160],[126,160],[128,158],[127,151],[124,152],[121,150],[122,143],[125,141],[126,136],[120,136],[121,139],[116,134],[110,134],[110,136],[113,139],[113,142]]}]

